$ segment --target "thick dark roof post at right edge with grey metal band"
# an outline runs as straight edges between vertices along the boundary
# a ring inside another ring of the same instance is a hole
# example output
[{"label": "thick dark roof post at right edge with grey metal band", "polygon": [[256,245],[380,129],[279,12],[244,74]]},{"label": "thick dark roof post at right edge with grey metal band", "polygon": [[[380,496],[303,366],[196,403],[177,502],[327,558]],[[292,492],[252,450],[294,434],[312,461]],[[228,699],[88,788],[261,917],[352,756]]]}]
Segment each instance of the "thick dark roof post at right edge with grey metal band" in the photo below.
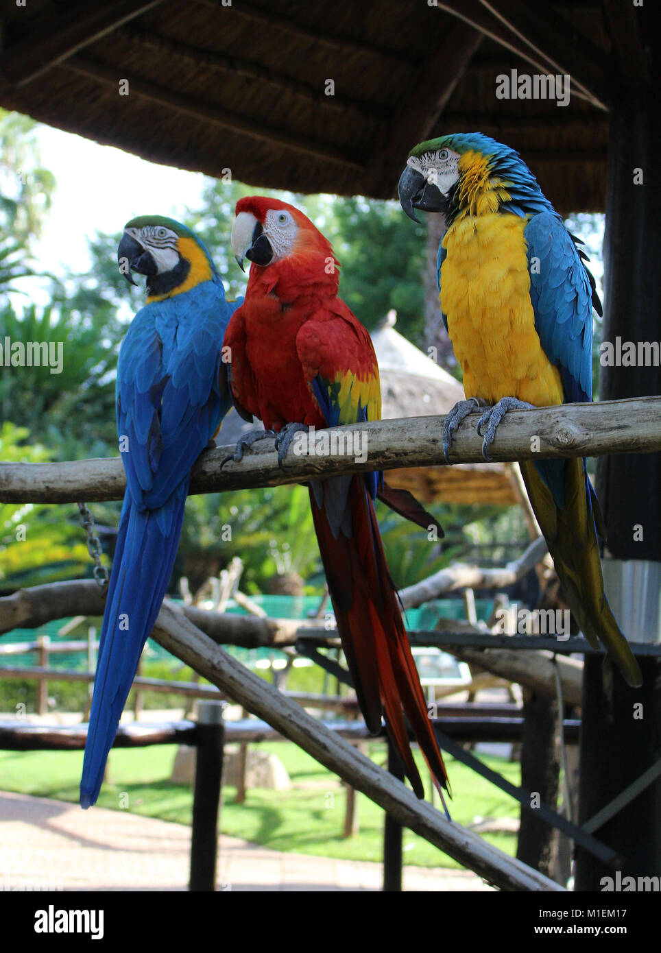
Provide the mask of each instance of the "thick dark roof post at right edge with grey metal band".
[{"label": "thick dark roof post at right edge with grey metal band", "polygon": [[[646,8],[645,8],[646,10]],[[622,15],[643,38],[645,15],[634,8]],[[651,29],[651,23],[650,23]],[[620,34],[622,31],[620,31]],[[614,348],[632,341],[635,362],[602,364],[599,396],[647,397],[661,392],[658,356],[641,345],[659,347],[661,286],[661,122],[656,76],[649,89],[635,89],[613,77],[617,90],[611,111],[609,177],[604,240],[604,326],[602,341]],[[642,361],[640,357],[643,357]],[[621,364],[621,366],[619,366]],[[601,500],[612,558],[604,559],[606,593],[632,642],[661,639],[659,563],[661,563],[661,454],[604,456],[597,461],[596,490]],[[611,663],[586,658],[580,747],[579,823],[617,797],[658,758],[661,732],[661,659],[638,657],[640,689],[629,688]],[[639,707],[638,707],[639,706]],[[652,876],[661,868],[661,781],[595,831],[622,857],[625,876]],[[576,851],[577,890],[599,890],[613,871]]]}]

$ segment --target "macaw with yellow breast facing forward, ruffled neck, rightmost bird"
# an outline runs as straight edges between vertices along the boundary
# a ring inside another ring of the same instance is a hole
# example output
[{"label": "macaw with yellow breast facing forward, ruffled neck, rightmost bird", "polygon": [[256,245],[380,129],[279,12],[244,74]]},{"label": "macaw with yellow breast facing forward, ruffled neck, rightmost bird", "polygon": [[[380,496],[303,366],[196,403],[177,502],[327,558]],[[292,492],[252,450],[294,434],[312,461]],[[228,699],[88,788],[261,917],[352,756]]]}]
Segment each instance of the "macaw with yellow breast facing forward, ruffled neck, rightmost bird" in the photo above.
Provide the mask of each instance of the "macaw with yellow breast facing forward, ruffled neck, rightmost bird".
[{"label": "macaw with yellow breast facing forward, ruffled neck, rightmost bird", "polygon": [[[399,199],[445,214],[437,258],[441,312],[469,398],[451,411],[444,452],[477,406],[482,453],[512,408],[592,398],[592,307],[601,314],[585,254],[519,154],[480,132],[444,135],[411,150]],[[450,462],[450,461],[449,461]],[[599,501],[581,458],[524,460],[532,509],[578,624],[601,639],[631,685],[640,670],[604,595]]]}]

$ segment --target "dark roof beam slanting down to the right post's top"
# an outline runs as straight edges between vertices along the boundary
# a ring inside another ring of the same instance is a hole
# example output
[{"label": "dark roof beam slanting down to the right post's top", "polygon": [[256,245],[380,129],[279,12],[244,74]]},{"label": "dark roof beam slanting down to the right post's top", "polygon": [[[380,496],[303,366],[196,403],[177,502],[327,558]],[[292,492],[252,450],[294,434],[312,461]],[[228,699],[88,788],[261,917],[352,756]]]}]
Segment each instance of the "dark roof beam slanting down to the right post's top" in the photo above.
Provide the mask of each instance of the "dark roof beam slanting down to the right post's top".
[{"label": "dark roof beam slanting down to the right post's top", "polygon": [[[543,73],[569,73],[573,94],[607,110],[608,57],[586,40],[580,56],[567,44],[567,34],[539,5],[529,9],[519,0],[437,0],[439,10],[480,30]],[[535,19],[536,18],[536,19]],[[583,42],[583,39],[581,40]]]}]

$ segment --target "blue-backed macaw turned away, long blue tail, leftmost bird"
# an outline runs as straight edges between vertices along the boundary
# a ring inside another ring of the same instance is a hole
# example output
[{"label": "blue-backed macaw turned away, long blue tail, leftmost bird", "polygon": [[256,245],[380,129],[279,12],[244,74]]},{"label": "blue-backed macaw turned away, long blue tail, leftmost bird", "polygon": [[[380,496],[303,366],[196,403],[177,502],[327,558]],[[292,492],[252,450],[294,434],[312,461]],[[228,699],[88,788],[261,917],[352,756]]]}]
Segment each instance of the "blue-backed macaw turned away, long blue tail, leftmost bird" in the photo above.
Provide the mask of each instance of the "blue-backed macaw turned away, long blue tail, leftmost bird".
[{"label": "blue-backed macaw turned away, long blue tail, leftmost bird", "polygon": [[204,244],[171,218],[132,219],[120,271],[147,275],[117,363],[117,434],[127,489],[91,701],[80,803],[96,801],[140,654],[176,557],[190,469],[231,406],[223,339],[229,303]]}]

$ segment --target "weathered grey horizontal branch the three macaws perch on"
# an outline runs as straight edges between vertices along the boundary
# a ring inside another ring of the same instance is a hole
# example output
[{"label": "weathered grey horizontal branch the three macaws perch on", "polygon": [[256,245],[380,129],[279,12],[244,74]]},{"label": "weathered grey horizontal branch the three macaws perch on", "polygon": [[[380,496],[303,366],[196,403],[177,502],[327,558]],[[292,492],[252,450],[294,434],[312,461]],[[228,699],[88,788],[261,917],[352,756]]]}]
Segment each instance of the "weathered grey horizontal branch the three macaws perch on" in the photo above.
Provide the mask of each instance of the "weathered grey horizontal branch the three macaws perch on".
[{"label": "weathered grey horizontal branch the three macaws perch on", "polygon": [[[462,424],[452,445],[453,463],[483,462],[478,414]],[[259,486],[299,483],[310,476],[333,476],[365,470],[439,466],[443,458],[444,416],[375,420],[352,427],[317,431],[332,435],[335,452],[297,456],[296,441],[281,469],[270,440],[256,444],[241,463],[220,463],[233,448],[205,452],[193,467],[190,493],[215,493]],[[351,436],[351,444],[349,437]],[[338,452],[338,446],[345,453]],[[351,453],[347,453],[351,447]],[[651,453],[661,450],[661,396],[563,404],[531,411],[511,411],[490,449],[494,460],[563,456]],[[318,455],[318,456],[317,456]],[[365,458],[363,458],[363,456]],[[67,463],[0,463],[0,502],[70,503],[84,499],[121,499],[125,476],[119,457]]]}]

